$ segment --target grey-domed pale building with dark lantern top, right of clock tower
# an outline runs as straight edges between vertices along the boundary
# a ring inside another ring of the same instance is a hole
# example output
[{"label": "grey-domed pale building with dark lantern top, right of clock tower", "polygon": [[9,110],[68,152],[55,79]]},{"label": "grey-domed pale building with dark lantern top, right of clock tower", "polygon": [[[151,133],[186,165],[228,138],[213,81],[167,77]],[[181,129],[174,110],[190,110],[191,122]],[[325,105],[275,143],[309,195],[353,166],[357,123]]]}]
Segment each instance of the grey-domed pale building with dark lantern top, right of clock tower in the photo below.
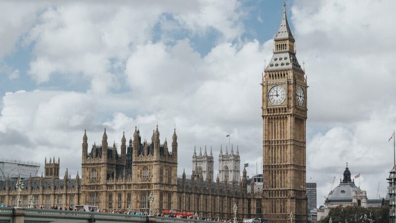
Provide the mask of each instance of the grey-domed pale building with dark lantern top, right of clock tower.
[{"label": "grey-domed pale building with dark lantern top, right of clock tower", "polygon": [[367,208],[366,191],[357,187],[350,178],[348,164],[344,171],[344,178],[340,179],[340,184],[330,191],[329,196],[325,200],[324,208],[318,210],[318,220],[326,217],[330,212],[330,208],[340,205],[357,205]]}]

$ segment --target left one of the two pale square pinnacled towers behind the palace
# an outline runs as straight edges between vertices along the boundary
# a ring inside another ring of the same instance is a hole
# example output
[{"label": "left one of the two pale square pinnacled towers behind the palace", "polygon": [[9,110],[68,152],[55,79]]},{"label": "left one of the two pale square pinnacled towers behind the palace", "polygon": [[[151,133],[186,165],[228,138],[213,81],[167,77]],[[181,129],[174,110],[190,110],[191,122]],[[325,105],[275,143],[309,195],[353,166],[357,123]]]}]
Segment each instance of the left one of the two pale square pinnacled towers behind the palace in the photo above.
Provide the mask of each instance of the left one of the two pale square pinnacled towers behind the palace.
[{"label": "left one of the two pale square pinnacled towers behind the palace", "polygon": [[197,169],[198,175],[202,174],[205,181],[213,181],[213,154],[210,148],[210,154],[207,155],[206,146],[202,156],[202,150],[199,148],[199,155],[197,156],[196,149],[194,148],[193,155],[193,170]]}]

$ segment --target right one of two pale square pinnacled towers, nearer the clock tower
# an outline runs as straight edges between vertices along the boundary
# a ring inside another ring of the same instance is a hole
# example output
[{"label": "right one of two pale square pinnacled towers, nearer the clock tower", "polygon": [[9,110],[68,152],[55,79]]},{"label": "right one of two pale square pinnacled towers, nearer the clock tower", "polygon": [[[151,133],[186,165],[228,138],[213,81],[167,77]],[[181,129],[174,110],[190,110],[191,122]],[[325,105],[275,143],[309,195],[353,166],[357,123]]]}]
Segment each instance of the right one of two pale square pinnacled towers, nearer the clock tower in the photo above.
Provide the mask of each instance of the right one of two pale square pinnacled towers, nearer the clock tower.
[{"label": "right one of two pale square pinnacled towers, nearer the clock tower", "polygon": [[219,154],[219,179],[220,181],[231,182],[239,180],[241,178],[241,158],[239,156],[239,150],[237,146],[237,153],[234,154],[234,146],[231,146],[231,152],[228,153],[226,147],[226,153],[223,154],[223,148],[220,146]]}]

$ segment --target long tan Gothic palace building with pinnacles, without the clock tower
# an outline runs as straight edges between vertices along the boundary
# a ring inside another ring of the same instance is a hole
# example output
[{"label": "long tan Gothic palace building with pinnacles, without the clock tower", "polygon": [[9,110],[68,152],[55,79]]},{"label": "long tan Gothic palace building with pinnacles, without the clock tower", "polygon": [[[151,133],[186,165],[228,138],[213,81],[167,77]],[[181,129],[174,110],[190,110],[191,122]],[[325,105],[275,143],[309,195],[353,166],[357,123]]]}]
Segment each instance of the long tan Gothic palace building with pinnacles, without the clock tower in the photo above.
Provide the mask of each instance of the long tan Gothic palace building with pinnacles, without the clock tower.
[{"label": "long tan Gothic palace building with pinnacles, without the clock tower", "polygon": [[[220,181],[218,177],[214,182],[204,180],[202,172],[196,170],[191,179],[186,179],[184,172],[182,178],[177,178],[177,151],[176,131],[168,148],[166,140],[160,143],[158,128],[153,131],[150,143],[142,142],[139,130],[135,129],[128,146],[125,135],[122,136],[120,154],[115,143],[108,146],[105,131],[101,145],[94,144],[88,152],[88,137],[84,133],[81,179],[78,174],[70,179],[67,172],[63,179],[55,175],[24,179],[27,189],[21,196],[22,204],[27,206],[25,200],[33,194],[36,204],[46,207],[88,204],[106,211],[131,207],[148,212],[148,195],[152,192],[154,213],[175,209],[231,219],[237,204],[239,219],[261,217],[262,194],[247,193],[245,169],[239,182]],[[0,199],[5,205],[16,205],[15,182],[16,179],[9,178],[0,181]]]}]

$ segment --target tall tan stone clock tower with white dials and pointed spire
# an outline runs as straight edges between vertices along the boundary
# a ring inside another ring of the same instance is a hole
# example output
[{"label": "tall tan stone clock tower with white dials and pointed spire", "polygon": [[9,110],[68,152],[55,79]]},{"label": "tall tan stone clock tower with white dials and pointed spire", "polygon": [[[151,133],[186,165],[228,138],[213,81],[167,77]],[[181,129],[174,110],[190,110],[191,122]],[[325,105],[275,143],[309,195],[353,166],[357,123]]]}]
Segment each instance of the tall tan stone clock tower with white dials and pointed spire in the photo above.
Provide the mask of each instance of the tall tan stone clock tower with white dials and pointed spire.
[{"label": "tall tan stone clock tower with white dials and pointed spire", "polygon": [[307,84],[298,64],[286,4],[262,79],[263,213],[268,223],[306,222]]}]

